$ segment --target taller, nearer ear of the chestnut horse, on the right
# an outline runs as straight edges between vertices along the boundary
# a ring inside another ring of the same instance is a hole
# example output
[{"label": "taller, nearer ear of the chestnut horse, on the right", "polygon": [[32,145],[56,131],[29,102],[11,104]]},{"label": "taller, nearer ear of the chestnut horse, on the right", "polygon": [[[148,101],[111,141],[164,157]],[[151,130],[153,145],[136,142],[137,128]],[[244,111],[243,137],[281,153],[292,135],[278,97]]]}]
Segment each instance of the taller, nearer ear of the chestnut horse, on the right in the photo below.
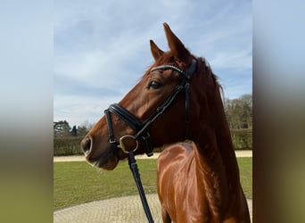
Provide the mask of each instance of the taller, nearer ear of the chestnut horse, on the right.
[{"label": "taller, nearer ear of the chestnut horse, on the right", "polygon": [[164,22],[163,23],[165,34],[168,39],[169,49],[172,54],[182,62],[186,64],[190,64],[193,60],[190,52],[185,48],[185,45],[176,37],[176,35],[170,30],[169,25]]}]

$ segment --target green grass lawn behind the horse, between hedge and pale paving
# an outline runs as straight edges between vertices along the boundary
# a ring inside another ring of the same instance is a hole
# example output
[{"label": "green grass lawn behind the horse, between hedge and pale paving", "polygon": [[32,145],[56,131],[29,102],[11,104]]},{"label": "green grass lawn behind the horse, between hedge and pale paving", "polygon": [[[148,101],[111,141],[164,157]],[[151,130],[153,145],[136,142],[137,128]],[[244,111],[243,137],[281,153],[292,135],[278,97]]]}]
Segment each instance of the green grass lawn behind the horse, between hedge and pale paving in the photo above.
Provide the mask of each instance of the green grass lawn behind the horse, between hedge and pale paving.
[{"label": "green grass lawn behind the horse, between hedge and pale paving", "polygon": [[[252,159],[238,158],[244,193],[252,196]],[[138,160],[145,193],[156,193],[157,160]],[[85,161],[54,162],[54,211],[84,202],[137,194],[128,161],[114,170],[95,169]]]}]

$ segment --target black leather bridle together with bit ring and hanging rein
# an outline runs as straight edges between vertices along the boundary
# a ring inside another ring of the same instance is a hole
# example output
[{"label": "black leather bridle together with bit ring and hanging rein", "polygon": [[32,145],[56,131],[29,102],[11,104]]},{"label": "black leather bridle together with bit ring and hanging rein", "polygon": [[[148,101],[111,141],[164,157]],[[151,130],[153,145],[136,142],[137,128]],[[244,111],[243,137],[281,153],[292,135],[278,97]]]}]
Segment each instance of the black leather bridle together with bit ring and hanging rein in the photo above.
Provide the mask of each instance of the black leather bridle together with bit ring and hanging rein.
[{"label": "black leather bridle together with bit ring and hanging rein", "polygon": [[[138,142],[138,138],[142,138],[144,140],[144,153],[146,153],[147,156],[152,156],[152,149],[153,145],[150,140],[150,134],[148,132],[148,128],[152,124],[154,120],[157,120],[164,111],[166,111],[170,104],[173,103],[174,99],[177,97],[177,95],[185,89],[185,138],[188,136],[188,128],[189,128],[189,80],[192,78],[194,71],[196,70],[197,62],[193,59],[191,66],[186,70],[180,70],[176,66],[173,65],[161,65],[157,66],[155,68],[152,68],[153,70],[174,70],[177,71],[181,76],[182,80],[177,87],[174,88],[174,90],[171,92],[169,97],[166,99],[164,103],[161,104],[160,107],[157,108],[156,111],[152,113],[152,115],[142,122],[141,120],[138,120],[134,114],[126,110],[124,107],[122,107],[119,103],[113,103],[109,106],[108,109],[104,111],[106,121],[107,121],[107,127],[109,132],[109,143],[115,147],[120,147],[125,153],[128,153],[128,163],[129,168],[131,172],[133,173],[133,177],[136,181],[137,190],[139,192],[141,202],[144,207],[144,212],[146,214],[146,217],[148,219],[149,223],[153,222],[152,219],[152,213],[149,209],[148,202],[145,197],[144,188],[142,186],[140,174],[137,168],[136,159],[134,151],[136,151]],[[123,120],[130,128],[132,128],[135,132],[135,136],[122,136],[120,138],[120,143],[115,140],[114,134],[113,134],[113,128],[111,125],[111,116],[110,113],[118,116],[120,120]],[[126,140],[134,140],[136,142],[135,149],[130,150],[126,148],[125,142]]]}]

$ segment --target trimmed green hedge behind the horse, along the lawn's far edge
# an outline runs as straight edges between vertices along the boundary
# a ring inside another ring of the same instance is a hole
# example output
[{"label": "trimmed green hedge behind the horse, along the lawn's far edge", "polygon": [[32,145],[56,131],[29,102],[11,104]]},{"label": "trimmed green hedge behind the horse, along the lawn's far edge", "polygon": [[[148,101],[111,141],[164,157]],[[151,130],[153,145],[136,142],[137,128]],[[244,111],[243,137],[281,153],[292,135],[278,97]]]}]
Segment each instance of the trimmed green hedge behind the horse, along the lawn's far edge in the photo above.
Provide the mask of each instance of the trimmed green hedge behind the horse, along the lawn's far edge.
[{"label": "trimmed green hedge behind the horse, along the lawn's far edge", "polygon": [[[232,129],[231,136],[235,150],[252,149],[252,129]],[[83,136],[54,137],[54,156],[82,155],[80,142]],[[161,152],[156,148],[154,152]]]}]

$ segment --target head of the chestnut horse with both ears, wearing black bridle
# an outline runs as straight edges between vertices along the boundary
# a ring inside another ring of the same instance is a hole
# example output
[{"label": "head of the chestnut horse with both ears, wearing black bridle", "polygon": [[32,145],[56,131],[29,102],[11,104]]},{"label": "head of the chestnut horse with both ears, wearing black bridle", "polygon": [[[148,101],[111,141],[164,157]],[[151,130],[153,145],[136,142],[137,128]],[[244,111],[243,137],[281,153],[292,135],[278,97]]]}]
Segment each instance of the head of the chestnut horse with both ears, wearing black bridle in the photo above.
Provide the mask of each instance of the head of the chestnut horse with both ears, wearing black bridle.
[{"label": "head of the chestnut horse with both ears, wearing black bridle", "polygon": [[[152,66],[81,142],[87,161],[98,168],[114,169],[130,150],[151,155],[153,147],[194,139],[198,121],[210,121],[210,111],[201,109],[210,107],[217,86],[209,63],[191,54],[163,25],[169,51],[150,41]],[[207,118],[200,120],[202,115]]]}]

